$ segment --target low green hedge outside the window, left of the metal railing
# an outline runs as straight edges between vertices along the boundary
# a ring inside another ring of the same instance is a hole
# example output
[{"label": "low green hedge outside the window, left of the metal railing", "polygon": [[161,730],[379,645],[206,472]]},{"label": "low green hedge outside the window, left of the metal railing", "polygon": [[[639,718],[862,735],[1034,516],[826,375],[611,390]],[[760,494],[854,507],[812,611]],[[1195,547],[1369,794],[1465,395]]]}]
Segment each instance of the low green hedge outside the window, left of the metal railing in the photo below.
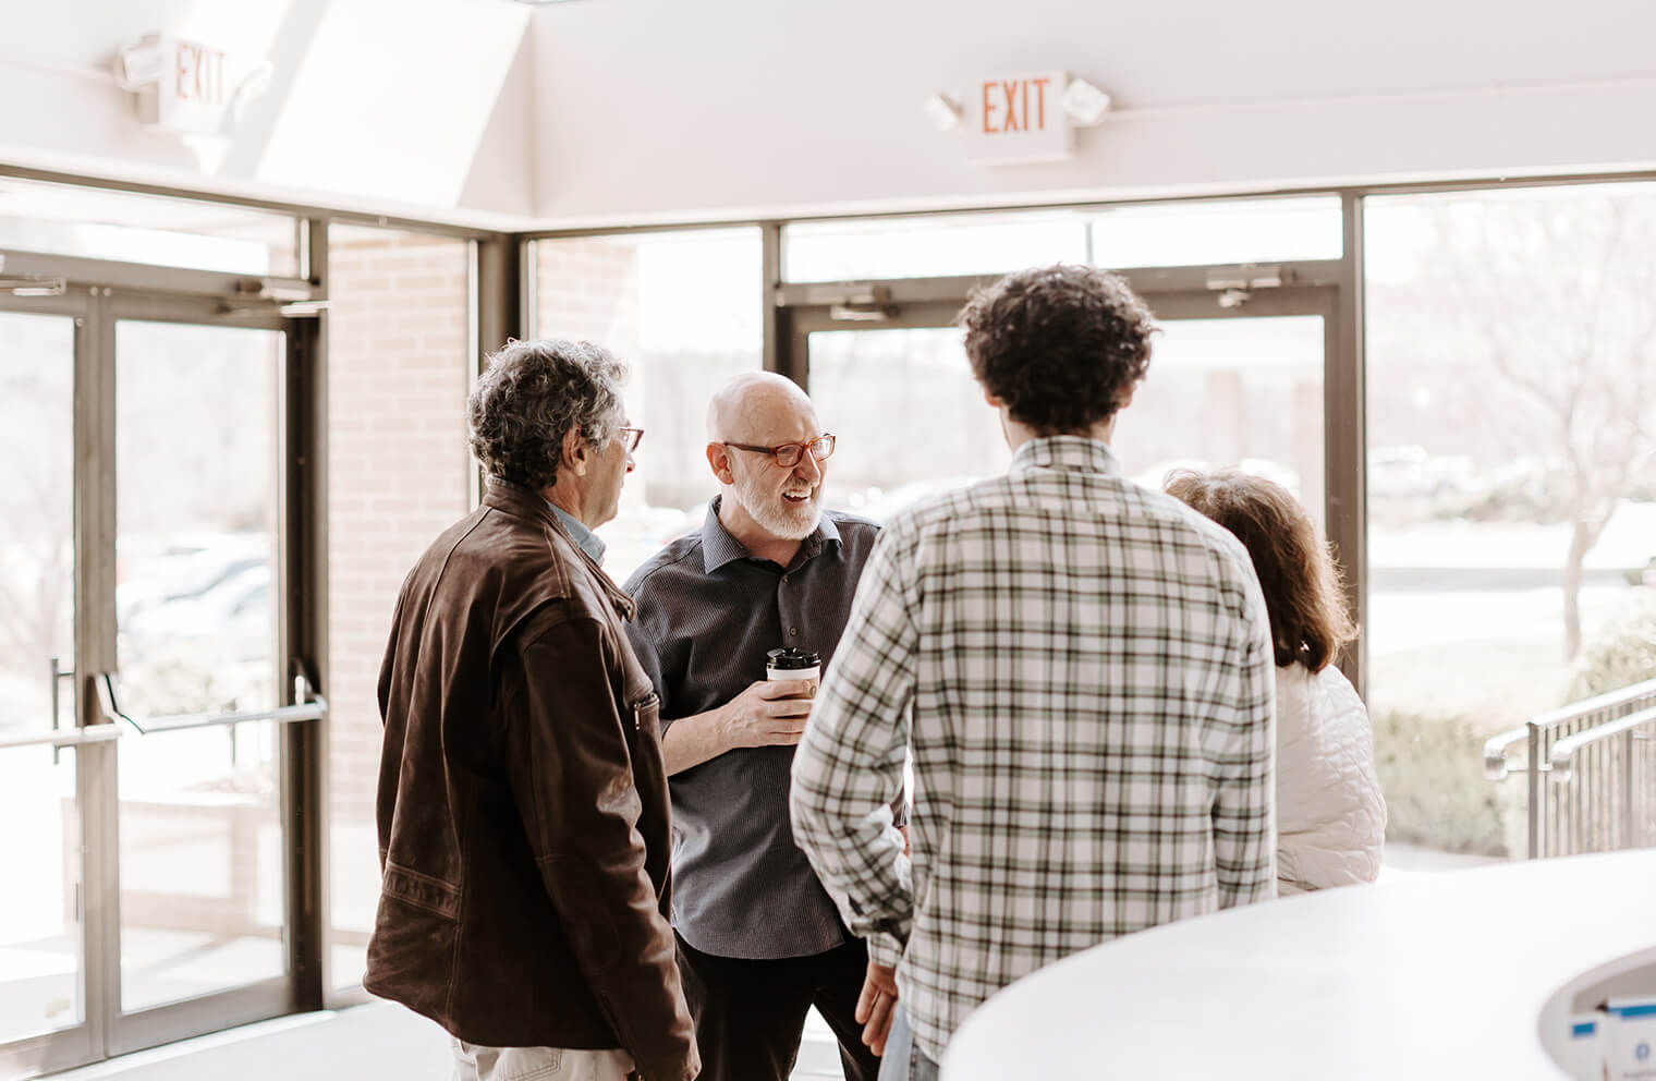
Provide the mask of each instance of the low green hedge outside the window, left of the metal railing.
[{"label": "low green hedge outside the window, left of the metal railing", "polygon": [[1510,854],[1519,781],[1485,780],[1484,738],[1466,718],[1386,712],[1373,720],[1388,841],[1446,853]]}]

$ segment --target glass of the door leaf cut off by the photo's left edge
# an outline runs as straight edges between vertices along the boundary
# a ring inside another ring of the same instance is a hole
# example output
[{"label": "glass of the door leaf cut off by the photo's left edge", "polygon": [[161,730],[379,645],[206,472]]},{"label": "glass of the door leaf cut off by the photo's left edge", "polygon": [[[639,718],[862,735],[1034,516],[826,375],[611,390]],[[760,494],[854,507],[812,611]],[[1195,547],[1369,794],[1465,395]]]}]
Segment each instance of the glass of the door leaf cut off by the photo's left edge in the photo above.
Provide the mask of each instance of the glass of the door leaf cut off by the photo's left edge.
[{"label": "glass of the door leaf cut off by the photo's left edge", "polygon": [[91,1050],[76,745],[76,356],[84,305],[0,296],[0,1073]]}]

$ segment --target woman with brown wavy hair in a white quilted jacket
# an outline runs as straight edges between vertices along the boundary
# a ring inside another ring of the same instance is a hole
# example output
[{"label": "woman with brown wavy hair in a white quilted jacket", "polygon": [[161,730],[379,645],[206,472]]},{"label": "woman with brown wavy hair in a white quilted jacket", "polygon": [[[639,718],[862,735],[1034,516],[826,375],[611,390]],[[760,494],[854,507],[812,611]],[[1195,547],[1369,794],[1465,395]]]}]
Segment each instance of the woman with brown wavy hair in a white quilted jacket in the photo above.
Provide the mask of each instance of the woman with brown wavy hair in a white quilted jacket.
[{"label": "woman with brown wavy hair in a white quilted jacket", "polygon": [[1179,470],[1167,493],[1230,530],[1254,558],[1277,649],[1277,892],[1379,874],[1386,801],[1356,689],[1333,667],[1356,637],[1328,546],[1278,483]]}]

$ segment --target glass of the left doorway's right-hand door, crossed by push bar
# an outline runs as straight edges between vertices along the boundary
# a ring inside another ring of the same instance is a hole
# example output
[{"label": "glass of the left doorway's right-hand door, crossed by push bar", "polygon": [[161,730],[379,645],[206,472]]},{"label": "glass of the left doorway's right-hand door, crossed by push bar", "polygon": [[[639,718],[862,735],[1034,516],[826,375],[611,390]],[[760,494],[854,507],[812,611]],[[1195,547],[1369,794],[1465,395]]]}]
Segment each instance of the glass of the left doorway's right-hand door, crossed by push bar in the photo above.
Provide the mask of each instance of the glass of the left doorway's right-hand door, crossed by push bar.
[{"label": "glass of the left doorway's right-hand door, crossed by push bar", "polygon": [[[277,700],[278,331],[116,326],[121,707]],[[121,1007],[280,977],[277,727],[123,740]]]}]

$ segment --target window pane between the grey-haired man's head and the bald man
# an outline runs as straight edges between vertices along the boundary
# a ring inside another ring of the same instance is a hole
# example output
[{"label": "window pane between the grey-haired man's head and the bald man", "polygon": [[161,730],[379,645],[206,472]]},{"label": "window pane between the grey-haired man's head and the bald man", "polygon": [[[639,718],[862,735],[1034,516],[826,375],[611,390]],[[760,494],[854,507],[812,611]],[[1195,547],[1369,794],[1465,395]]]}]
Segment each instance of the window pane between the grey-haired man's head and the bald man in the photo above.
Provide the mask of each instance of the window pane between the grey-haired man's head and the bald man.
[{"label": "window pane between the grey-haired man's head and the bald man", "polygon": [[717,492],[707,401],[763,364],[760,268],[753,228],[535,243],[537,333],[596,341],[633,369],[626,406],[644,444],[621,513],[599,530],[616,581],[700,526]]}]

